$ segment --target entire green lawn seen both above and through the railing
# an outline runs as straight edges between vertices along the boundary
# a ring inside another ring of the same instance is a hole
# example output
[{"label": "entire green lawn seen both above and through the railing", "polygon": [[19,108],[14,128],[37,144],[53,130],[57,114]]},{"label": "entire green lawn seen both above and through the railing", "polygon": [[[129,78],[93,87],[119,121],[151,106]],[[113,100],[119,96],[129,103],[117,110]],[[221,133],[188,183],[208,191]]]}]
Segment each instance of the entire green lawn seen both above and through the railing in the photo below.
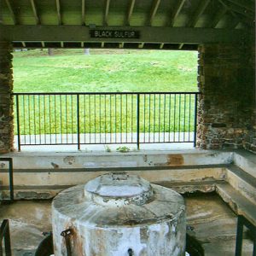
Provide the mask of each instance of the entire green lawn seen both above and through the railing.
[{"label": "entire green lawn seen both above and through the railing", "polygon": [[[197,91],[195,51],[91,49],[84,55],[82,49],[55,49],[54,53],[15,52],[15,92]],[[67,96],[67,104],[65,100],[65,96],[20,97],[20,134],[76,133],[76,96]],[[141,96],[140,131],[193,131],[194,106],[193,96]],[[122,100],[81,96],[79,113],[82,133],[137,131],[137,96]]]}]

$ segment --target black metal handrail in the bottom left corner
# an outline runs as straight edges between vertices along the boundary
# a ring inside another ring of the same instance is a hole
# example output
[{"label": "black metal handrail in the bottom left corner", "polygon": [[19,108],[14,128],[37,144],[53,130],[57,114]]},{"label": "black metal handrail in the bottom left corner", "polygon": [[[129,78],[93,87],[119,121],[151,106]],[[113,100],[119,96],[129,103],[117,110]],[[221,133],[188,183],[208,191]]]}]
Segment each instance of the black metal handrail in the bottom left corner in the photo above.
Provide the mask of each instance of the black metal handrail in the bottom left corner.
[{"label": "black metal handrail in the bottom left corner", "polygon": [[[3,247],[4,240],[4,247]],[[11,242],[9,235],[9,220],[3,219],[3,222],[0,227],[0,256],[11,256]],[[3,253],[4,252],[4,253]]]}]

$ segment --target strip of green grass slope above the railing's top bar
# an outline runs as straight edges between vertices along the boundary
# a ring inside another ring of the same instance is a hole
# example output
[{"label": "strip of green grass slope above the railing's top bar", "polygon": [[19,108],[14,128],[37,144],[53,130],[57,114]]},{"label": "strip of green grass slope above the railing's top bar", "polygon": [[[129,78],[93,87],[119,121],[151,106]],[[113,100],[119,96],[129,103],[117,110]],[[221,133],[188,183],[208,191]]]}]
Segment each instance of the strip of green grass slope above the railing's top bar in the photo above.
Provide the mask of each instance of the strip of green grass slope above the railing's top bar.
[{"label": "strip of green grass slope above the railing's top bar", "polygon": [[82,49],[15,52],[15,92],[197,91],[197,52]]}]

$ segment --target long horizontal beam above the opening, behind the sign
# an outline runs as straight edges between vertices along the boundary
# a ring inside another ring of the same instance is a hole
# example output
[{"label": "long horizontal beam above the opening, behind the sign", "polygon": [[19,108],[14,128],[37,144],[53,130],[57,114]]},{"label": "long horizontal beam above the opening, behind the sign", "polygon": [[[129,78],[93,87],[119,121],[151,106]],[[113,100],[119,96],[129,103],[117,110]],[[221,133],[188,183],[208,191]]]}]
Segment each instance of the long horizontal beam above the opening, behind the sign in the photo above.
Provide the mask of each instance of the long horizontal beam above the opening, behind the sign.
[{"label": "long horizontal beam above the opening, behind the sign", "polygon": [[97,30],[140,32],[140,38],[91,38],[89,26],[12,26],[0,25],[0,40],[17,42],[113,42],[113,43],[173,43],[210,44],[241,42],[247,30],[155,27],[96,26]]}]

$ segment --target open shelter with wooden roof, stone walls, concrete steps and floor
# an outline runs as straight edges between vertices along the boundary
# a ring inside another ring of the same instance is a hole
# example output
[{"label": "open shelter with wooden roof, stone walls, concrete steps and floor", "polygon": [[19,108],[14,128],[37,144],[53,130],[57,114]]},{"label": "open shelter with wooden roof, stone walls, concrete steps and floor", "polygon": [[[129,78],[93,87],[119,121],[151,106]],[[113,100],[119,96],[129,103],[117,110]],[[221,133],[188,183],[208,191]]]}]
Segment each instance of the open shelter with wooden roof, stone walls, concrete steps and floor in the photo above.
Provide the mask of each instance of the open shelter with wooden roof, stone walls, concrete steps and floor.
[{"label": "open shelter with wooden roof, stone walls, concrete steps and floor", "polygon": [[[252,0],[0,0],[1,199],[9,197],[9,166],[1,158],[13,160],[15,192],[14,204],[0,205],[0,219],[10,220],[14,255],[34,253],[43,240],[40,232],[51,230],[55,195],[107,172],[137,174],[176,190],[185,198],[192,226],[187,232],[205,254],[234,255],[236,216],[256,225],[254,5]],[[97,38],[96,29],[129,37]],[[195,148],[17,151],[12,51],[104,47],[198,51]],[[252,254],[253,239],[244,234],[245,255]]]}]

